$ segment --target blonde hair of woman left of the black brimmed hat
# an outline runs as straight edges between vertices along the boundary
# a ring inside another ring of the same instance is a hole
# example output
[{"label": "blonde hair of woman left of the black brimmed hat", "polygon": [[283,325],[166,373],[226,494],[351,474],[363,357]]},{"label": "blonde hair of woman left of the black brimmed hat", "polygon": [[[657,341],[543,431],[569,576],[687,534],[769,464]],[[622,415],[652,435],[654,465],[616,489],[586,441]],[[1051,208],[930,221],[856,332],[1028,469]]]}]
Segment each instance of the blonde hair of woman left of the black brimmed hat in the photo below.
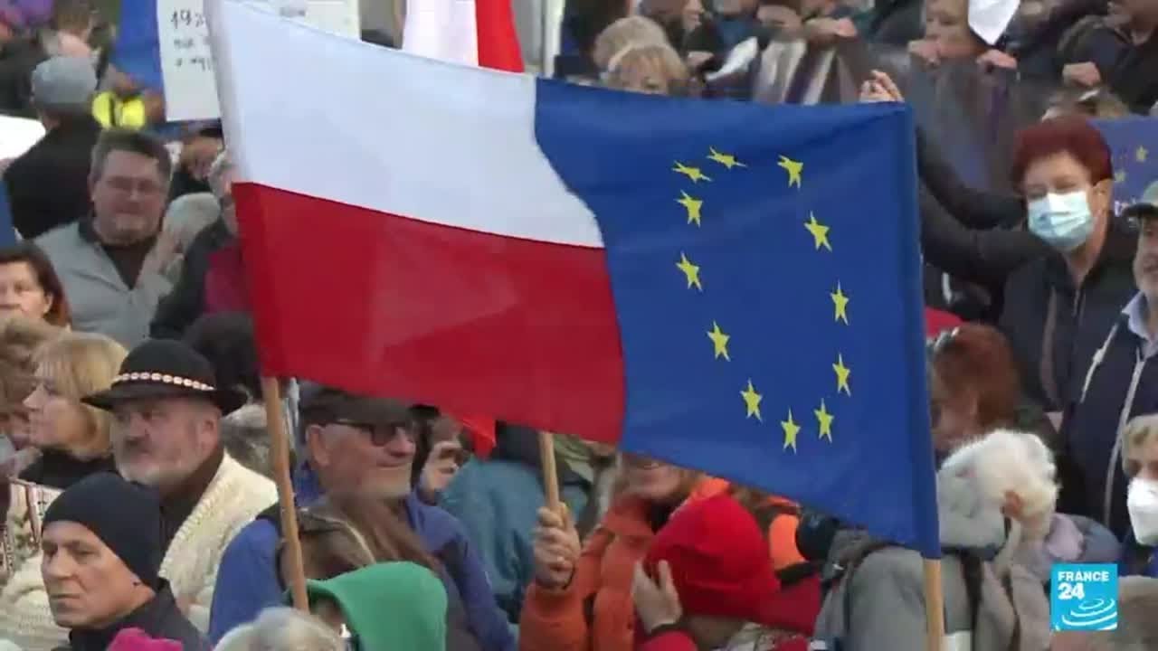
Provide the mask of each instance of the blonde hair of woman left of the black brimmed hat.
[{"label": "blonde hair of woman left of the black brimmed hat", "polygon": [[[32,358],[37,374],[52,382],[53,390],[80,404],[80,398],[109,388],[129,353],[117,342],[91,332],[66,332],[41,346]],[[80,404],[87,415],[89,437],[69,454],[94,459],[109,452],[112,415]]]}]

